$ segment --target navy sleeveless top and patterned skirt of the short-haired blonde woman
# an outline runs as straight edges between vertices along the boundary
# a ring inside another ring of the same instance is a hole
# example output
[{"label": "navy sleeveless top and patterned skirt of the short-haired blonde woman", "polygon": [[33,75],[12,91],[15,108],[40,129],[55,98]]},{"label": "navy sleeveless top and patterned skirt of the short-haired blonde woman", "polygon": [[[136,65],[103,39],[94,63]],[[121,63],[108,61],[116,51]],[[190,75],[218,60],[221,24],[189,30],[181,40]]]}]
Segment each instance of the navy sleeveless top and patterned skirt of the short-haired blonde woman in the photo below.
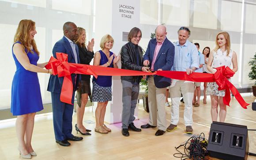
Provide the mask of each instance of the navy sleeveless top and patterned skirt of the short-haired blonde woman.
[{"label": "navy sleeveless top and patterned skirt of the short-haired blonde woman", "polygon": [[[102,50],[99,51],[101,55],[100,65],[107,63],[109,60]],[[109,56],[112,56],[113,52],[109,51]],[[114,60],[114,59],[113,59]],[[113,60],[108,67],[113,68]],[[112,76],[98,76],[96,79],[92,79],[92,101],[93,102],[105,102],[112,100]]]}]

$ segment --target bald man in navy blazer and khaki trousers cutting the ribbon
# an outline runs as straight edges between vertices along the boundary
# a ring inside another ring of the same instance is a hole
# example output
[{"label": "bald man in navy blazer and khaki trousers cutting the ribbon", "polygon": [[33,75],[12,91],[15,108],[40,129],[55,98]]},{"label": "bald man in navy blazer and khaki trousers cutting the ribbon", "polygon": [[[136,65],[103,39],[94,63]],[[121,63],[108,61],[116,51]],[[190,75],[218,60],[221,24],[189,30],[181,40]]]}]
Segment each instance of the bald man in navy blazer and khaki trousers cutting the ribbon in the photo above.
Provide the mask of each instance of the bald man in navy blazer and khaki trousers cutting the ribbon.
[{"label": "bald man in navy blazer and khaki trousers cutting the ribbon", "polygon": [[[165,26],[159,25],[155,33],[156,38],[151,39],[147,45],[143,65],[150,67],[151,71],[170,71],[174,60],[174,45],[166,38]],[[170,82],[170,78],[148,76],[149,122],[141,128],[158,127],[156,136],[166,132],[166,87],[170,86]]]}]

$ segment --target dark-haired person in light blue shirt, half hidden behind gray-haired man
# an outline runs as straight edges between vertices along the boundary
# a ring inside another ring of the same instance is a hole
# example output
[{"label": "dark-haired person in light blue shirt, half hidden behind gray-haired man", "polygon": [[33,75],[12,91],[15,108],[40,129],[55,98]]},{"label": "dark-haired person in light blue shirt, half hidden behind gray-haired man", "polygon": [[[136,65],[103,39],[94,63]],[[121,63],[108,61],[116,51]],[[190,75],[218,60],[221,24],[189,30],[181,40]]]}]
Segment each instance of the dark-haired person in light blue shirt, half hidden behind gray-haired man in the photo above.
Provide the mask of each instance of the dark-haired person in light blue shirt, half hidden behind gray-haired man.
[{"label": "dark-haired person in light blue shirt, half hidden behind gray-haired man", "polygon": [[[197,70],[195,72],[198,72],[198,73],[203,73],[203,65],[204,65],[204,56],[201,52],[199,52],[199,49],[200,49],[200,45],[199,43],[194,43],[194,45],[196,45],[196,48],[198,50],[198,57],[199,57],[199,68],[197,68]],[[194,97],[193,97],[193,100],[192,100],[192,104],[195,106],[195,107],[199,107],[200,106],[200,95],[201,95],[201,82],[195,82],[195,86],[196,86],[196,89],[195,89],[195,92],[194,92]],[[197,100],[196,100],[196,96],[197,96]]]}]

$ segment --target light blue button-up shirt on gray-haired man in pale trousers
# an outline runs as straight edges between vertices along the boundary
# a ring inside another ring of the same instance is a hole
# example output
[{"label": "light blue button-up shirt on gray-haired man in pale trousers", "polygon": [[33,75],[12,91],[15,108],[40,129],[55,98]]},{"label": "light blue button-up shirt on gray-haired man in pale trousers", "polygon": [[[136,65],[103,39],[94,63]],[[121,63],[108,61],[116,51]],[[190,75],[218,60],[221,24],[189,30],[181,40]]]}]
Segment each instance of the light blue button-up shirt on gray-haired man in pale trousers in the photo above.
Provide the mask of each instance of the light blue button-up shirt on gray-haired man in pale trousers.
[{"label": "light blue button-up shirt on gray-haired man in pale trousers", "polygon": [[199,56],[196,45],[190,41],[181,46],[179,41],[173,43],[175,55],[172,71],[186,71],[187,68],[199,68]]}]

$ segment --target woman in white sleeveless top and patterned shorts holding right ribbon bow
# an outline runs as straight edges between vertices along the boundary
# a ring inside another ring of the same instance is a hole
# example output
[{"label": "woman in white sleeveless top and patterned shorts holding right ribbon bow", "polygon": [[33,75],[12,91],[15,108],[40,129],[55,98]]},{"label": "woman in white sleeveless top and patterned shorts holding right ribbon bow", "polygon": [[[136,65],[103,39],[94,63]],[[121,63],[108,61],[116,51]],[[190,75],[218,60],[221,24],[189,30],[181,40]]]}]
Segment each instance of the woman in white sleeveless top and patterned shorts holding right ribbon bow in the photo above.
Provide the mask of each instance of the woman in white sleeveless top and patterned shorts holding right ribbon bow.
[{"label": "woman in white sleeveless top and patterned shorts holding right ribbon bow", "polygon": [[[233,71],[238,70],[237,67],[237,53],[230,49],[230,35],[227,32],[220,32],[216,36],[216,47],[210,52],[207,69],[214,74],[217,67],[225,66],[230,67],[233,64]],[[229,79],[230,80],[230,79]],[[224,122],[226,119],[226,105],[223,103],[225,96],[225,89],[218,90],[216,82],[209,82],[207,85],[206,93],[211,95],[211,120],[217,121],[218,119],[218,105],[219,121]]]}]

